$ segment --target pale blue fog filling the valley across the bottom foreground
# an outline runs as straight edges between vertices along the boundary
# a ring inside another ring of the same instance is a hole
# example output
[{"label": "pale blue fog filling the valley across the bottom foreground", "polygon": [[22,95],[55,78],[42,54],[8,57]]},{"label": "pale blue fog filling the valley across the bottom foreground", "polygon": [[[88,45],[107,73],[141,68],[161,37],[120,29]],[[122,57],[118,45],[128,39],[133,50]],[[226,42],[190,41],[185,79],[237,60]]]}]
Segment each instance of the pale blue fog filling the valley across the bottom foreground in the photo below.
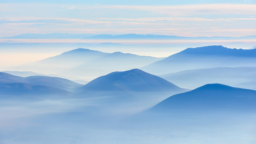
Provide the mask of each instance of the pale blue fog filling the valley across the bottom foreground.
[{"label": "pale blue fog filling the valley across the bottom foreground", "polygon": [[[118,108],[106,110],[106,99],[112,101],[102,97],[2,100],[0,143],[253,144],[256,140],[255,113],[145,114],[138,113],[138,104],[124,109],[124,102]],[[111,107],[109,101],[107,105]],[[149,106],[140,102],[144,109]]]}]

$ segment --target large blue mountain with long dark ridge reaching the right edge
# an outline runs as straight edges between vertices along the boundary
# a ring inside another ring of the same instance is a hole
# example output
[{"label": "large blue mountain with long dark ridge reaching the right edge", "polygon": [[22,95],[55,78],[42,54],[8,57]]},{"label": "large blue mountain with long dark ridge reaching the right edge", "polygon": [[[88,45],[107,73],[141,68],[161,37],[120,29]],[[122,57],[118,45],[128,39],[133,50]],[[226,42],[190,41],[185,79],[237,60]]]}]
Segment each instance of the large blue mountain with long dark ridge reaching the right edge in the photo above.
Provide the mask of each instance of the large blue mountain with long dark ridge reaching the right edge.
[{"label": "large blue mountain with long dark ridge reaching the right edge", "polygon": [[223,46],[204,46],[185,49],[141,69],[155,75],[162,75],[189,69],[255,66],[256,49],[244,50],[229,49]]}]

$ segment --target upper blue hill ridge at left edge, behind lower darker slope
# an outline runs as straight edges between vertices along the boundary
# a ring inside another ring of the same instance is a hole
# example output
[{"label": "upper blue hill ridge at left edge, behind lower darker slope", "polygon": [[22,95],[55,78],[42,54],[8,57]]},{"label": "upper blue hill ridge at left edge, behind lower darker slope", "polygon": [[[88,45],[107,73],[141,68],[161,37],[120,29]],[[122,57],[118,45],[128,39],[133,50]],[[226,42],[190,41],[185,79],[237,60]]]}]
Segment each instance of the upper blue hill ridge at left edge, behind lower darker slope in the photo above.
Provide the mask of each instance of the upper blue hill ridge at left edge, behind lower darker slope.
[{"label": "upper blue hill ridge at left edge, behind lower darker slope", "polygon": [[[29,77],[20,77],[10,75],[8,73],[0,72],[0,84],[2,86],[13,86],[13,83],[16,83],[16,86],[31,86],[31,85],[40,85],[45,87],[60,88],[63,90],[74,90],[75,88],[82,87],[82,84],[72,82],[68,79],[63,79],[59,77],[50,77],[50,76],[29,76]],[[17,85],[18,84],[18,85]],[[22,84],[22,85],[19,85]]]}]

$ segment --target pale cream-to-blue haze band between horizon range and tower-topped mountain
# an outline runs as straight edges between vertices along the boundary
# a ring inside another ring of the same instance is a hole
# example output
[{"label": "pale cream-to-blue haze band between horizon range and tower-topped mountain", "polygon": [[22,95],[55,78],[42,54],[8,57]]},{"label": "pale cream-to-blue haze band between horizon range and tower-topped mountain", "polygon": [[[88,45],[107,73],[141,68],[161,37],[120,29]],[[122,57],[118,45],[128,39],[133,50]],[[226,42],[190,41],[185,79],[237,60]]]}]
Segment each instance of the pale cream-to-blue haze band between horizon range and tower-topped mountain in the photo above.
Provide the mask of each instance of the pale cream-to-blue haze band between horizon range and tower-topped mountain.
[{"label": "pale cream-to-blue haze band between horizon range and tower-topped mountain", "polygon": [[[78,47],[101,52],[123,52],[167,57],[186,48],[223,45],[249,49],[255,40],[127,40],[127,39],[0,39],[0,67],[19,65],[56,56]],[[100,43],[118,43],[102,45]]]}]

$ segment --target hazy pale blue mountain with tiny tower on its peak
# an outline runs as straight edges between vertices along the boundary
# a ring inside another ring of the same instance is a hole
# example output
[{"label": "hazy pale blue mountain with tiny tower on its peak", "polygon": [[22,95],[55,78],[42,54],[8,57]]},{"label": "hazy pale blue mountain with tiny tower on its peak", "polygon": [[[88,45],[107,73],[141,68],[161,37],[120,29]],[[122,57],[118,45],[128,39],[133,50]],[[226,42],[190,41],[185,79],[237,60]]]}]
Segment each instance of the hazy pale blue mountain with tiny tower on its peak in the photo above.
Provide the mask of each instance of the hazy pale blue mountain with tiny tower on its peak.
[{"label": "hazy pale blue mountain with tiny tower on its peak", "polygon": [[62,77],[77,77],[80,80],[90,81],[113,71],[140,68],[162,59],[151,56],[138,56],[130,53],[104,53],[79,48],[58,56],[10,69],[52,73],[54,75],[61,75]]}]

